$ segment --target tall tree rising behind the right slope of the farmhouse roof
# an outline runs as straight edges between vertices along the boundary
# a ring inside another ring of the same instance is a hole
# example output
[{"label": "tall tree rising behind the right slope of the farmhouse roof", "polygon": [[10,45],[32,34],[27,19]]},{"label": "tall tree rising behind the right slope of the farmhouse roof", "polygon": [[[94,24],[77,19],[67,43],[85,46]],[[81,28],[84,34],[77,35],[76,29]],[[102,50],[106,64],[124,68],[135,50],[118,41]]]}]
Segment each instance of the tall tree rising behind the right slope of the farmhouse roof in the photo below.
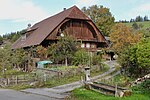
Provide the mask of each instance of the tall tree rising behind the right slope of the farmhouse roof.
[{"label": "tall tree rising behind the right slope of the farmhouse roof", "polygon": [[83,7],[82,11],[92,19],[103,35],[108,36],[110,34],[115,18],[108,8],[93,5],[88,8]]}]

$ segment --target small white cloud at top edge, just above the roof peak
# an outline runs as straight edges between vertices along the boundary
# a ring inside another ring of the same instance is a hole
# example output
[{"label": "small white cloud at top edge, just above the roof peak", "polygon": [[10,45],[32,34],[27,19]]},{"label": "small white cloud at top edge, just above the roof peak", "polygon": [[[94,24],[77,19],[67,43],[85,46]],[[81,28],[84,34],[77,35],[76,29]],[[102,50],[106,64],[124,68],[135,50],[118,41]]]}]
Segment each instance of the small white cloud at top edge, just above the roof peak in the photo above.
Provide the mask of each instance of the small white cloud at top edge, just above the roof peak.
[{"label": "small white cloud at top edge, just above the roof peak", "polygon": [[76,4],[80,7],[83,6],[91,6],[91,5],[95,5],[98,3],[99,0],[76,0]]}]

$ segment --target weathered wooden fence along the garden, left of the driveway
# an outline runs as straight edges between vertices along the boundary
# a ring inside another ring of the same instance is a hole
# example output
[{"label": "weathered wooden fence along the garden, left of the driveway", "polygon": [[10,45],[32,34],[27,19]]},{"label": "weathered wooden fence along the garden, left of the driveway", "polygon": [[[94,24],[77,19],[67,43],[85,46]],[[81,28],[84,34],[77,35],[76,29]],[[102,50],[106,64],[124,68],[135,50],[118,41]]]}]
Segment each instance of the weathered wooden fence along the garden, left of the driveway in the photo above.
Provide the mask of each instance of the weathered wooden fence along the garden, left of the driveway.
[{"label": "weathered wooden fence along the garden, left of the driveway", "polygon": [[[91,70],[97,70],[98,66],[93,66]],[[5,75],[6,78],[0,78],[0,86],[11,86],[17,84],[31,84],[36,81],[47,81],[55,79],[61,79],[63,77],[72,77],[74,75],[79,75],[84,73],[84,68],[82,66],[77,68],[68,68],[66,70],[51,70],[44,68],[37,68],[30,74],[23,75]]]}]

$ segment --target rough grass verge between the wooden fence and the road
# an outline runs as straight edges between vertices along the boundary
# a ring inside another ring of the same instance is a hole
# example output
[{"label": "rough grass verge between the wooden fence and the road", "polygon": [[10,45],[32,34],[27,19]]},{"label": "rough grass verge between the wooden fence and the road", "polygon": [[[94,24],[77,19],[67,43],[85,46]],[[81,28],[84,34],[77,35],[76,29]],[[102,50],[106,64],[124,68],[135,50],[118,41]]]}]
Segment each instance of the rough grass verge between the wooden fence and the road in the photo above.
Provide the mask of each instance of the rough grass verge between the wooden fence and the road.
[{"label": "rough grass verge between the wooden fence and the road", "polygon": [[[74,68],[74,67],[73,67]],[[108,70],[108,67],[104,67],[103,70],[101,71],[92,71],[91,72],[91,76],[96,76],[96,75],[99,75],[99,74],[102,74],[103,72],[107,71]],[[22,90],[22,89],[26,89],[26,88],[40,88],[40,87],[54,87],[54,86],[59,86],[59,85],[63,85],[63,84],[68,84],[68,83],[72,83],[72,82],[75,82],[75,81],[79,81],[81,80],[81,76],[84,77],[84,73],[81,73],[81,74],[75,74],[75,75],[71,75],[71,76],[64,76],[64,77],[61,77],[61,78],[51,78],[49,79],[48,81],[46,82],[38,82],[36,84],[36,86],[30,86],[30,85],[27,85],[27,84],[21,84],[21,85],[14,85],[14,86],[9,86],[7,88],[9,89],[15,89],[15,90]]]}]

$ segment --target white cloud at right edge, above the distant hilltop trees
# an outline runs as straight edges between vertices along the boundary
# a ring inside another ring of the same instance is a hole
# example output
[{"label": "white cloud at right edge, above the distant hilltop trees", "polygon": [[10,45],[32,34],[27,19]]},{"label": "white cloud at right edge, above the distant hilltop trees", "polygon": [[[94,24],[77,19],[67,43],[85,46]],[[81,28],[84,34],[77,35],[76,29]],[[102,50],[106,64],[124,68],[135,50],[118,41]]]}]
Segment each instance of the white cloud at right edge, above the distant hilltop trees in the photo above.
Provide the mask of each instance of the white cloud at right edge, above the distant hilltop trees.
[{"label": "white cloud at right edge, above the distant hilltop trees", "polygon": [[134,18],[136,16],[145,16],[150,15],[150,4],[141,4],[136,8],[133,8],[129,11],[128,16]]}]

